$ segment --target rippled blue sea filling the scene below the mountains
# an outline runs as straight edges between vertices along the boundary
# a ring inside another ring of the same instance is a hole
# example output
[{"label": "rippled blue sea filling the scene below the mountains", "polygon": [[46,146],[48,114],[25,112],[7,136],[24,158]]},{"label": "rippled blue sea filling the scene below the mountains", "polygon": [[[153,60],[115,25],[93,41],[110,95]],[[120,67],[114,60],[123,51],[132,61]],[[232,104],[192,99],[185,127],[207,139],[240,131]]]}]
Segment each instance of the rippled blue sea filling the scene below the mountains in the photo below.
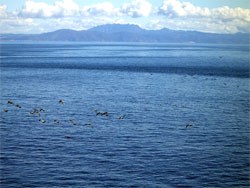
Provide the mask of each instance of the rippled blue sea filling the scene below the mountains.
[{"label": "rippled blue sea filling the scene below the mountains", "polygon": [[250,186],[249,46],[0,51],[1,188]]}]

